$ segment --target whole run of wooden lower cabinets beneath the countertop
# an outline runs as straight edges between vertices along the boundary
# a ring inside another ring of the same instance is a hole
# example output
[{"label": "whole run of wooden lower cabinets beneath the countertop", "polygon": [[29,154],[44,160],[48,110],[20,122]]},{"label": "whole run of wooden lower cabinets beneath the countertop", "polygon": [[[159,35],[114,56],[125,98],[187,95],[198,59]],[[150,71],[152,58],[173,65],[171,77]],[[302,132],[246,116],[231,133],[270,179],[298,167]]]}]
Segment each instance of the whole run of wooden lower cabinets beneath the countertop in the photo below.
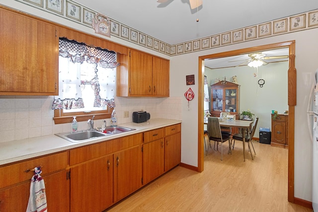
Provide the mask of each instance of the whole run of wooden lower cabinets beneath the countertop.
[{"label": "whole run of wooden lower cabinets beneath the countertop", "polygon": [[[181,125],[0,167],[0,212],[25,212],[42,165],[48,211],[101,212],[180,163]],[[146,135],[147,134],[147,135]]]}]

